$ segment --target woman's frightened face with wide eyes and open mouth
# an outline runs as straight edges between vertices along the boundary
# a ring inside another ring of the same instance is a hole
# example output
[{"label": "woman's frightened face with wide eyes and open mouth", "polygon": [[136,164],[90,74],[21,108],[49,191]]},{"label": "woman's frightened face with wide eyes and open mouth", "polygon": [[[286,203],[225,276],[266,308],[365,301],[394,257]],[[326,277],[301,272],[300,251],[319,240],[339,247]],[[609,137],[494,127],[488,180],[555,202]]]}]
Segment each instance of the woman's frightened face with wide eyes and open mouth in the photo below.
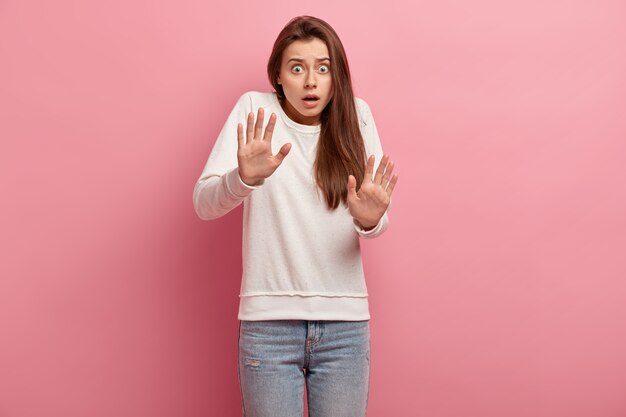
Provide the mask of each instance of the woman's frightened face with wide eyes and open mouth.
[{"label": "woman's frightened face with wide eyes and open mouth", "polygon": [[[330,56],[324,41],[297,40],[284,51],[278,76],[285,97],[283,109],[296,123],[320,124],[320,115],[332,98]],[[314,96],[317,99],[305,99]]]}]

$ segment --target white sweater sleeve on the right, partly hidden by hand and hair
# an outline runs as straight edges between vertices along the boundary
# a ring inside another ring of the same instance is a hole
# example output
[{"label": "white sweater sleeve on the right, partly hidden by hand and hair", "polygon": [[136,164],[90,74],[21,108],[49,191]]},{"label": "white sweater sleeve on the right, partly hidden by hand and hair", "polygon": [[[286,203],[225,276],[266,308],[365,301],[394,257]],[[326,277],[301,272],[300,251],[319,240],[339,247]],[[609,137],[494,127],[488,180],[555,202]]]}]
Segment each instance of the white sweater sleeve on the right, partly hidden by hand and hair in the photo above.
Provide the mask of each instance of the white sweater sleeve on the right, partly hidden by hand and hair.
[{"label": "white sweater sleeve on the right, partly hidden by hand and hair", "polygon": [[[367,157],[371,154],[374,154],[374,172],[378,168],[378,164],[383,159],[383,148],[380,143],[380,138],[378,137],[378,130],[376,129],[376,123],[374,122],[374,116],[372,116],[372,111],[370,110],[369,105],[365,102],[365,100],[361,98],[356,99],[357,102],[357,111],[361,115],[361,133],[363,135],[363,141],[365,142],[365,151],[367,152]],[[378,221],[378,224],[374,226],[373,229],[365,230],[360,227],[356,220],[354,221],[354,228],[362,238],[374,238],[376,236],[380,236],[387,227],[389,226],[389,209],[391,208],[391,199],[389,201],[389,206],[383,216]]]}]

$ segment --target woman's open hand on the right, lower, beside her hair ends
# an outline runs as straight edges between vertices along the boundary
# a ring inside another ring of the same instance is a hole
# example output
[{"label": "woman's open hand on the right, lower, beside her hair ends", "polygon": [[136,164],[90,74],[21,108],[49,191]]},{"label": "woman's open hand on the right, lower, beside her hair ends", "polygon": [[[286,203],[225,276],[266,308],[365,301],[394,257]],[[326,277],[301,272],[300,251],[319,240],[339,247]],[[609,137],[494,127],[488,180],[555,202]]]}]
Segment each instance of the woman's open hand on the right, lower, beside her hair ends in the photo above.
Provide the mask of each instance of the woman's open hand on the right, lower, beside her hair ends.
[{"label": "woman's open hand on the right, lower, beside her hair ends", "polygon": [[385,155],[374,172],[374,155],[370,155],[365,167],[365,176],[359,191],[356,191],[356,178],[348,176],[348,209],[354,219],[364,229],[372,229],[378,224],[389,206],[391,193],[398,181],[398,174],[391,176],[393,162]]}]

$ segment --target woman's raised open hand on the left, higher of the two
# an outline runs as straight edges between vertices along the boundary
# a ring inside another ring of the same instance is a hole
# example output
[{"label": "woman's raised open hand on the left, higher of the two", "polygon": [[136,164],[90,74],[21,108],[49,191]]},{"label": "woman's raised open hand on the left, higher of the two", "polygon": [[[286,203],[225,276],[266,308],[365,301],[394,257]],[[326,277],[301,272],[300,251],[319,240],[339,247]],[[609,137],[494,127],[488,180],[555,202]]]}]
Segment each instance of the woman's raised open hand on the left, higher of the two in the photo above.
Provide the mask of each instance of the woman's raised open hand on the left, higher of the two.
[{"label": "woman's raised open hand on the left, higher of the two", "polygon": [[285,143],[276,155],[272,155],[272,134],[276,124],[276,114],[272,113],[270,121],[265,128],[265,134],[261,137],[263,129],[263,107],[259,107],[256,124],[254,113],[248,114],[246,139],[243,135],[243,125],[237,125],[237,163],[239,164],[239,176],[241,180],[250,185],[258,185],[262,180],[269,177],[280,166],[283,159],[291,150],[291,143]]}]

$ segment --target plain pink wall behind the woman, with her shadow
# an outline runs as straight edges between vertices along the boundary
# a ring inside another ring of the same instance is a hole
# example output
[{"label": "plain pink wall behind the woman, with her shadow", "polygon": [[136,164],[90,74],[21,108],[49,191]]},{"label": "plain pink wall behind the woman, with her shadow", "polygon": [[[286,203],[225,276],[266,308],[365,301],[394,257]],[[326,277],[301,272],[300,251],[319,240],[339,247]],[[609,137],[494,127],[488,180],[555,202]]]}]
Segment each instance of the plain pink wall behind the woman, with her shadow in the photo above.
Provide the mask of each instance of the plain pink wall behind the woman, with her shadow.
[{"label": "plain pink wall behind the woman, with her shadow", "polygon": [[191,196],[300,14],[400,174],[368,416],[626,416],[626,4],[302,6],[0,2],[0,417],[240,415],[241,207]]}]

